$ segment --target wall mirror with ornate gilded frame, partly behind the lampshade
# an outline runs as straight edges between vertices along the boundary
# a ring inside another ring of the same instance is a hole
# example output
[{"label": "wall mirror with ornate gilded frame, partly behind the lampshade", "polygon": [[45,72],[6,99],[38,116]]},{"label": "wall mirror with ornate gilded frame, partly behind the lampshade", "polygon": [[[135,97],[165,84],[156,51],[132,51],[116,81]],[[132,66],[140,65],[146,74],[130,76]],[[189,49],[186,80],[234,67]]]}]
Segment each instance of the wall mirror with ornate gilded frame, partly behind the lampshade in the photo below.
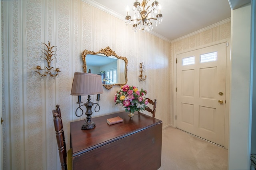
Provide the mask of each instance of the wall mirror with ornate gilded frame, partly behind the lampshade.
[{"label": "wall mirror with ornate gilded frame, partly behind the lampshade", "polygon": [[110,89],[115,85],[123,86],[127,83],[126,57],[118,56],[110,47],[98,52],[84,50],[82,52],[84,72],[91,72],[102,76],[102,85]]}]

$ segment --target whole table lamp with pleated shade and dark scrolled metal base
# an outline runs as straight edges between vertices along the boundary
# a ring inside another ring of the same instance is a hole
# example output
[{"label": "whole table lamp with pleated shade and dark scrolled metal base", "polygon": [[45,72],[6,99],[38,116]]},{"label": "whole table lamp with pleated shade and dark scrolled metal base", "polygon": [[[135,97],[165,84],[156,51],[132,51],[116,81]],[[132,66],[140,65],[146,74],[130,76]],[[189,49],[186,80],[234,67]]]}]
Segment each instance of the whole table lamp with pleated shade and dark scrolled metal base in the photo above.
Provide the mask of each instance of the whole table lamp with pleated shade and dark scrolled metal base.
[{"label": "whole table lamp with pleated shade and dark scrolled metal base", "polygon": [[[99,106],[98,102],[100,101],[101,93],[103,93],[103,87],[102,87],[102,80],[100,75],[85,73],[85,72],[75,72],[70,95],[78,96],[78,102],[76,102],[78,104],[78,108],[76,109],[77,117],[82,116],[84,113],[83,109],[80,106],[80,104],[82,104],[81,96],[88,95],[88,99],[87,99],[88,102],[83,104],[86,107],[85,114],[87,115],[86,117],[87,120],[84,119],[86,122],[82,125],[82,129],[93,129],[95,127],[95,123],[91,121],[92,106],[94,104],[97,104],[97,106]],[[93,95],[93,94],[97,94],[97,99],[96,99],[98,101],[97,103],[91,102],[90,95]],[[95,108],[94,108],[94,111],[96,111]],[[78,109],[82,110],[81,115],[77,115]],[[98,111],[99,110],[100,110],[100,106]]]}]

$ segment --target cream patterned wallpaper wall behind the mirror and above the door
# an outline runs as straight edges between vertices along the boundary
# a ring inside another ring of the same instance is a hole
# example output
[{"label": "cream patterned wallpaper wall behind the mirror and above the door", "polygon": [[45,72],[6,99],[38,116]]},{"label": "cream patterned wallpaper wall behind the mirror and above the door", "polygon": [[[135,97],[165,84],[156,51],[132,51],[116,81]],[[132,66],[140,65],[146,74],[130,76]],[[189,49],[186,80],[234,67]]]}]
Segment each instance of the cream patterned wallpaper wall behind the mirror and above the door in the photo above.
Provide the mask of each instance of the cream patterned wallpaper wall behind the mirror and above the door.
[{"label": "cream patterned wallpaper wall behind the mirror and above the door", "polygon": [[[6,0],[2,3],[3,154],[6,170],[60,169],[52,109],[62,110],[67,147],[69,123],[76,117],[77,97],[70,96],[74,72],[82,72],[84,49],[109,46],[128,59],[128,84],[144,88],[157,99],[156,118],[173,125],[173,62],[176,51],[230,37],[230,23],[169,43],[148,32],[134,33],[124,21],[80,0]],[[41,43],[57,46],[60,75],[40,80]],[[205,42],[206,41],[206,42]],[[140,82],[139,63],[147,80]],[[123,110],[113,102],[116,90],[104,89],[100,108],[92,117]],[[96,96],[92,96],[95,101]],[[86,96],[82,96],[86,101]]]}]

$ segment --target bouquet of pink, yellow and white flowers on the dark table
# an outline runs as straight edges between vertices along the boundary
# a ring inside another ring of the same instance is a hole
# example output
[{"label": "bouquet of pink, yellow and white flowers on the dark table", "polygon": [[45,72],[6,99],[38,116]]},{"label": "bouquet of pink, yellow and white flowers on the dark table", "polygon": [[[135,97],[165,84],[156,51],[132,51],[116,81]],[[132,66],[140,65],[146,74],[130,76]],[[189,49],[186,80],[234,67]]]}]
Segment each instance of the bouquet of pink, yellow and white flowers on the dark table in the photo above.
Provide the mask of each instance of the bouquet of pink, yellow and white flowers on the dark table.
[{"label": "bouquet of pink, yellow and white flowers on the dark table", "polygon": [[148,99],[145,95],[147,90],[138,90],[135,86],[124,85],[120,91],[116,91],[114,102],[125,108],[125,111],[134,113],[134,111],[145,110]]}]

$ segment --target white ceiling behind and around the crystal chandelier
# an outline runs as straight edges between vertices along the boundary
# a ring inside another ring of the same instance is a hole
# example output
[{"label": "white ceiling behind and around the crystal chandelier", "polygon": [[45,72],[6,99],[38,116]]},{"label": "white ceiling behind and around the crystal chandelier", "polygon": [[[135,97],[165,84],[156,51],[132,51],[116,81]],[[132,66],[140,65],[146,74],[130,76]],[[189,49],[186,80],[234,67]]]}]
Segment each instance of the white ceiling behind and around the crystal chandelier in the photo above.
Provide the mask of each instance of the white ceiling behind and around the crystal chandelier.
[{"label": "white ceiling behind and around the crystal chandelier", "polygon": [[[83,0],[122,20],[127,6],[132,16],[135,0]],[[139,0],[141,2],[142,0]],[[153,2],[153,0],[151,0]],[[193,33],[231,17],[228,0],[158,0],[163,21],[157,27],[153,24],[153,34],[168,41]],[[154,23],[154,22],[152,22]],[[127,27],[132,27],[128,25]]]}]

